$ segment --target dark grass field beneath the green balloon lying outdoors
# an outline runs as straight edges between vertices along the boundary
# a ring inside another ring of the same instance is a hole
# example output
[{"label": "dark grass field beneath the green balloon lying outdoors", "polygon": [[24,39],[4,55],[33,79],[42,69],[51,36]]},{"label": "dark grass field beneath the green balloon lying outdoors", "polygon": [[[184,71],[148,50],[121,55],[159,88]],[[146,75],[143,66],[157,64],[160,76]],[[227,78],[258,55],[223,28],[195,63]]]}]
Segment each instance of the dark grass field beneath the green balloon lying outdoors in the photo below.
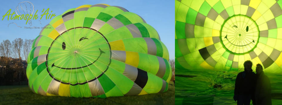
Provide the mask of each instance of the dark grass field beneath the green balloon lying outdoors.
[{"label": "dark grass field beneath the green balloon lying outdoors", "polygon": [[169,89],[164,93],[108,97],[104,99],[41,96],[31,92],[27,85],[0,86],[0,104],[173,105],[174,84],[169,82]]}]

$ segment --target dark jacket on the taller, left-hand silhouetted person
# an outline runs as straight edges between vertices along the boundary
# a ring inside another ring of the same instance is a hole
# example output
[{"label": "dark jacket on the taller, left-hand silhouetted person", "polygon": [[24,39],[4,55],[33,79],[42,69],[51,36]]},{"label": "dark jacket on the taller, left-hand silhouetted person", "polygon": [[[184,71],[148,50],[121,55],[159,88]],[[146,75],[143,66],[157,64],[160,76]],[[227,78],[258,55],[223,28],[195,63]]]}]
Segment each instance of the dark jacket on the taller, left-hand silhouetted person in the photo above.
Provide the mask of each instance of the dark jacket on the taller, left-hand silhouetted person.
[{"label": "dark jacket on the taller, left-hand silhouetted person", "polygon": [[[253,71],[253,70],[252,70]],[[235,81],[235,95],[243,94],[254,94],[255,87],[255,73],[247,72],[246,69],[244,72],[240,72]]]}]

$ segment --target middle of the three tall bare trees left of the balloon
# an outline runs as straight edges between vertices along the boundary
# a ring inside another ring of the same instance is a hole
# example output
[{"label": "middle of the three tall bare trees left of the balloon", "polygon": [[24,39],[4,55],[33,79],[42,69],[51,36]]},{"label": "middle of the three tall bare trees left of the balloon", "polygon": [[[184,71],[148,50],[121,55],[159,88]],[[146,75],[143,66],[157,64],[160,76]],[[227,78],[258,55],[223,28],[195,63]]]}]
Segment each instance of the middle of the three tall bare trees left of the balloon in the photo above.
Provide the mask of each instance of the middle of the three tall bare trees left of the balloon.
[{"label": "middle of the three tall bare trees left of the balloon", "polygon": [[15,57],[19,57],[19,60],[21,60],[21,48],[23,46],[23,39],[16,38],[15,40],[13,40],[12,45],[13,51],[16,55]]}]

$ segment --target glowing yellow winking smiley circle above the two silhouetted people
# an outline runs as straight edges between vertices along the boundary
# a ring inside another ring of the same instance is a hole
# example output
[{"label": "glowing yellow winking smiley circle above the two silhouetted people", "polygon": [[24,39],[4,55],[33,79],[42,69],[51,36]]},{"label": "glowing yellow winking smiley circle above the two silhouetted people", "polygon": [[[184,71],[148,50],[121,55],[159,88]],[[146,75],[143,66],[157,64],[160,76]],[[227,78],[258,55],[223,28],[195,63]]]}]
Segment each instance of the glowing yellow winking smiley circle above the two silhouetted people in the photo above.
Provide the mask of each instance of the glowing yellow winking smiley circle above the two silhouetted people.
[{"label": "glowing yellow winking smiley circle above the two silhouetted people", "polygon": [[254,50],[258,40],[259,28],[256,22],[248,16],[231,16],[221,26],[220,41],[230,53],[248,53]]}]

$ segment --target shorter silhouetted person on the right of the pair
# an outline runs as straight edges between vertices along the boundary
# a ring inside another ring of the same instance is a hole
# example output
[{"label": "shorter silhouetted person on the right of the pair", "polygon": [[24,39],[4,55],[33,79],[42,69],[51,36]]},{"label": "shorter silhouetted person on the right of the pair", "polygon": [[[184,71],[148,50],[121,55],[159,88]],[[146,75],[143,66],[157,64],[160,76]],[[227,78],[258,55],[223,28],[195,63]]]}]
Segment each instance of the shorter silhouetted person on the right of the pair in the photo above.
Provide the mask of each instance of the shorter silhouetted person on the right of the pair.
[{"label": "shorter silhouetted person on the right of the pair", "polygon": [[260,64],[256,65],[255,104],[271,105],[271,86]]}]

